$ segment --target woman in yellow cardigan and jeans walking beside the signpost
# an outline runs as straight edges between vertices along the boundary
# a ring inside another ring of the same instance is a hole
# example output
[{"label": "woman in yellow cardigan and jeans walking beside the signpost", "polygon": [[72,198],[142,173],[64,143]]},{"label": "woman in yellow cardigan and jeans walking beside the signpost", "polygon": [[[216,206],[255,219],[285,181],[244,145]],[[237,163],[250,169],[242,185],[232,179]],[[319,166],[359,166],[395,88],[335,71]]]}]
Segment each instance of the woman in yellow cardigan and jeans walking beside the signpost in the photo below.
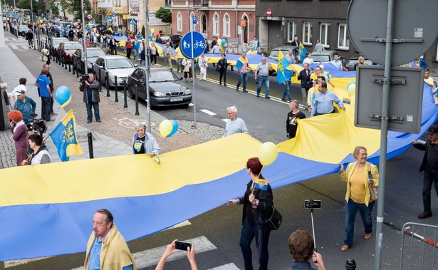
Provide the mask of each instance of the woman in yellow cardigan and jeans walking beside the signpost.
[{"label": "woman in yellow cardigan and jeans walking beside the signpost", "polygon": [[[340,178],[347,182],[347,193],[345,194],[345,234],[347,238],[342,246],[342,251],[347,251],[353,245],[353,234],[355,230],[356,212],[360,213],[365,227],[364,239],[370,239],[372,233],[371,211],[374,201],[370,199],[369,186],[379,186],[379,172],[377,167],[367,162],[367,149],[363,146],[355,147],[353,157],[347,170],[340,165]],[[368,170],[371,175],[368,175]]]}]

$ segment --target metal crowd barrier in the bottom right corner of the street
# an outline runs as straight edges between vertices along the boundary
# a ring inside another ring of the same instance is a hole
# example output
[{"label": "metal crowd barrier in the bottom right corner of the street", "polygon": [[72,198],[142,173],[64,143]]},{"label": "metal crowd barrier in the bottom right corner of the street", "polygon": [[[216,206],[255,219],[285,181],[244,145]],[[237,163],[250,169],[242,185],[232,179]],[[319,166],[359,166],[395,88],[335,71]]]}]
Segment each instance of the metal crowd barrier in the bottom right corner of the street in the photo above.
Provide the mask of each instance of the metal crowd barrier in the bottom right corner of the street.
[{"label": "metal crowd barrier in the bottom right corner of the street", "polygon": [[437,269],[438,226],[407,222],[400,233],[400,270]]}]

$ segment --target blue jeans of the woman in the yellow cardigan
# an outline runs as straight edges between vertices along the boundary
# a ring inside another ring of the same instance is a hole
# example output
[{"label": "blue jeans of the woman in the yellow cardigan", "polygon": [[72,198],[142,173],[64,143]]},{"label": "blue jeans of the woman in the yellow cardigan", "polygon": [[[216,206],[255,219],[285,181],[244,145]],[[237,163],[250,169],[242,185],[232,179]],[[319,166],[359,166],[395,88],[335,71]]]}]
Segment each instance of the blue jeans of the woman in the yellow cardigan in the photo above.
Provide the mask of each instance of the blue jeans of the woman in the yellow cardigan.
[{"label": "blue jeans of the woman in the yellow cardigan", "polygon": [[353,199],[348,200],[348,202],[345,204],[345,234],[347,235],[347,239],[345,239],[344,244],[347,246],[353,245],[355,218],[358,210],[360,217],[362,217],[363,227],[365,227],[365,234],[370,234],[372,232],[372,207],[374,207],[374,201],[370,202],[368,206],[366,206],[365,204],[358,204],[357,202],[353,201]]}]

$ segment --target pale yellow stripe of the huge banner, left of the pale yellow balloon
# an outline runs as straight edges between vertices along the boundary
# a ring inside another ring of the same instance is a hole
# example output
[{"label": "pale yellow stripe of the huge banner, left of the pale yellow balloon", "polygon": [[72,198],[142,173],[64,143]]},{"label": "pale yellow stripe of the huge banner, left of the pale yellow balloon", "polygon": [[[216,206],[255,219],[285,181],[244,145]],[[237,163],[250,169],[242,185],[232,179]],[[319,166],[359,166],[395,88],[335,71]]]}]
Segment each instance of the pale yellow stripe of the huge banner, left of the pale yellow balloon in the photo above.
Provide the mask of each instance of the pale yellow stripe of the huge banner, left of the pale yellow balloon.
[{"label": "pale yellow stripe of the huge banner, left of the pale yellow balloon", "polygon": [[[160,155],[125,155],[0,170],[0,206],[163,194],[231,175],[261,142],[246,134]],[[19,176],[19,177],[17,177]]]}]

